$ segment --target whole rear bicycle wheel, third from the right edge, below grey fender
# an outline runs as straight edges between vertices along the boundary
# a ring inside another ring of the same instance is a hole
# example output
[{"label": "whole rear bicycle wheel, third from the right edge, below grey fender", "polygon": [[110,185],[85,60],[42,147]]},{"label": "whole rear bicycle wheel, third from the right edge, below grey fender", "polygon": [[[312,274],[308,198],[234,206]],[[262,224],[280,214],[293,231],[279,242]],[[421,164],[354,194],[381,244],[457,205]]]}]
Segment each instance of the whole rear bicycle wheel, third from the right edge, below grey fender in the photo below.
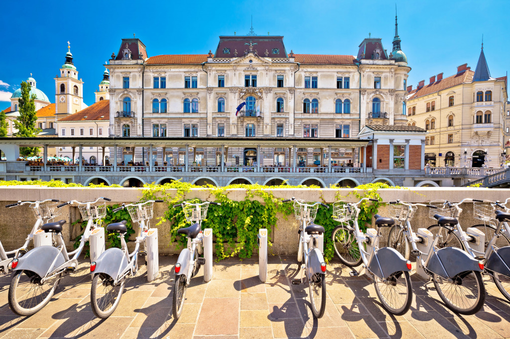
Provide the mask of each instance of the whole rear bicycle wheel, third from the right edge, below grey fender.
[{"label": "whole rear bicycle wheel, third from the right edge, below grey fender", "polygon": [[411,289],[409,272],[395,272],[386,281],[375,276],[374,287],[382,307],[389,313],[401,316],[411,307],[413,290]]}]

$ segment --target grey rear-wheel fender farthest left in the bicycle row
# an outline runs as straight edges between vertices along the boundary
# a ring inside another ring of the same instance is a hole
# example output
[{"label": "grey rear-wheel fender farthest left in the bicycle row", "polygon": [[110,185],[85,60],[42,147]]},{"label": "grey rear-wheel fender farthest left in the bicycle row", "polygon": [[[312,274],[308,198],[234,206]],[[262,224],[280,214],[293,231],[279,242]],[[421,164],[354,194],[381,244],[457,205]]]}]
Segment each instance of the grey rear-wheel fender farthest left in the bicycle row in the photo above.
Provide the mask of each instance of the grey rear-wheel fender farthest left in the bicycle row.
[{"label": "grey rear-wheel fender farthest left in the bicycle row", "polygon": [[[55,260],[57,258],[57,260]],[[14,271],[32,271],[40,277],[53,271],[65,263],[64,256],[57,247],[40,246],[28,251],[23,257],[18,259],[18,265]],[[50,267],[55,260],[53,267]]]}]

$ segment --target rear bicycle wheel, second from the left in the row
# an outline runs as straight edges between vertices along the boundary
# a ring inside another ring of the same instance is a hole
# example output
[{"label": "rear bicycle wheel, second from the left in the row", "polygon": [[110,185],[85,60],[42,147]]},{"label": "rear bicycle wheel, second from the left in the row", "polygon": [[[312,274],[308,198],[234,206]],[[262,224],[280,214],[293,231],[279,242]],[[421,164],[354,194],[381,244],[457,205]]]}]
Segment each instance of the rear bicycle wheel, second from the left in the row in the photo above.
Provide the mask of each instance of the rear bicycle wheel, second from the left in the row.
[{"label": "rear bicycle wheel, second from the left in the row", "polygon": [[120,302],[125,279],[122,279],[120,284],[117,285],[114,285],[113,281],[114,279],[107,274],[94,274],[90,290],[90,304],[92,305],[92,312],[97,318],[110,317]]}]

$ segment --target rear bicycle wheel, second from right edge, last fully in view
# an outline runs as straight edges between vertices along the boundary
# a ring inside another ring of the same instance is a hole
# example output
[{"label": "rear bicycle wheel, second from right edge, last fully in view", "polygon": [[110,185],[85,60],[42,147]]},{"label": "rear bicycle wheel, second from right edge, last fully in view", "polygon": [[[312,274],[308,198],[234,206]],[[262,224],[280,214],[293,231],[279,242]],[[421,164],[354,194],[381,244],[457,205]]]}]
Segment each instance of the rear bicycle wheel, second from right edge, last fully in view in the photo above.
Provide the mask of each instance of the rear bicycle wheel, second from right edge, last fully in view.
[{"label": "rear bicycle wheel, second from right edge, last fully in view", "polygon": [[452,281],[434,274],[434,286],[446,306],[462,315],[473,315],[483,306],[485,286],[478,271],[466,271],[455,275]]}]

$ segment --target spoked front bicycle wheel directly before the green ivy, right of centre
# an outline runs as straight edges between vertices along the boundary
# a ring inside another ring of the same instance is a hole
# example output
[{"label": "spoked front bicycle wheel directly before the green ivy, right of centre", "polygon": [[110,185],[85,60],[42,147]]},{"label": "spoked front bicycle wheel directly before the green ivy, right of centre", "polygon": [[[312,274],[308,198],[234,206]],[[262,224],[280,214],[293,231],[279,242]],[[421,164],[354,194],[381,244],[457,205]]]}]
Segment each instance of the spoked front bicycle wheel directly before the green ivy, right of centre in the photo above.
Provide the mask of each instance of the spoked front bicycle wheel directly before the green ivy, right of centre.
[{"label": "spoked front bicycle wheel directly before the green ivy, right of centre", "polygon": [[[347,235],[347,240],[346,239]],[[349,267],[355,267],[361,263],[361,252],[352,230],[345,225],[338,225],[331,234],[333,248],[340,261]],[[340,248],[337,244],[340,244]]]}]

